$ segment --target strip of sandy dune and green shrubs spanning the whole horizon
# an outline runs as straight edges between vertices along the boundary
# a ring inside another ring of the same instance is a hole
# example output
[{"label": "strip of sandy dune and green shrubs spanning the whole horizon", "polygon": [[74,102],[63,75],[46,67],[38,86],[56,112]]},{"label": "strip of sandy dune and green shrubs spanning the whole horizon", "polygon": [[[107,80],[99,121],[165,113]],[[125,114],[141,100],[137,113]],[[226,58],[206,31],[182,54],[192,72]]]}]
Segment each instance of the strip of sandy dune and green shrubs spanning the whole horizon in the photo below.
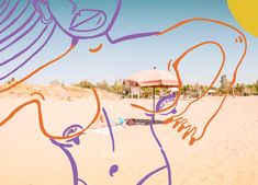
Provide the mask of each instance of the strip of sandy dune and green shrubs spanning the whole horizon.
[{"label": "strip of sandy dune and green shrubs spanning the whole horizon", "polygon": [[[9,81],[7,81],[4,84],[1,86],[7,86],[15,82],[15,79],[12,78]],[[227,80],[227,77],[225,74],[222,74],[220,79],[220,86],[212,88],[213,93],[212,95],[218,95],[222,96],[228,91],[228,86],[231,84],[231,81]],[[69,92],[69,94],[77,94],[76,96],[83,96],[86,91],[92,88],[97,88],[99,90],[103,90],[110,93],[113,93],[120,97],[131,97],[131,88],[123,84],[123,80],[116,80],[114,81],[113,84],[109,84],[108,81],[103,80],[98,83],[92,83],[89,80],[82,80],[79,83],[72,84],[72,85],[66,85],[64,82],[53,80],[49,82],[52,89],[54,88],[56,91],[61,92],[59,94],[66,94],[66,92]],[[20,88],[19,88],[20,86]],[[9,94],[21,94],[21,91],[30,91],[30,89],[35,90],[38,89],[36,85],[30,85],[27,83],[22,83],[16,88],[11,89]],[[23,86],[23,88],[22,88]],[[38,85],[37,85],[38,86]],[[59,89],[57,89],[59,86]],[[74,88],[72,88],[74,86]],[[43,92],[48,92],[51,89],[47,86],[43,89]],[[183,88],[181,89],[181,95],[183,97],[198,97],[200,96],[203,92],[207,91],[209,86],[203,85],[203,84],[184,84]],[[18,92],[19,91],[19,92]],[[16,93],[15,93],[16,92]],[[25,93],[25,92],[24,92]],[[153,96],[153,88],[142,88],[141,89],[141,97],[147,99]],[[166,95],[168,94],[168,89],[167,88],[156,88],[155,89],[155,94],[157,95]],[[251,84],[244,84],[244,83],[236,83],[233,88],[229,89],[228,91],[229,95],[233,96],[249,96],[249,95],[258,95],[258,80],[255,83]],[[68,95],[70,96],[70,95]]]}]

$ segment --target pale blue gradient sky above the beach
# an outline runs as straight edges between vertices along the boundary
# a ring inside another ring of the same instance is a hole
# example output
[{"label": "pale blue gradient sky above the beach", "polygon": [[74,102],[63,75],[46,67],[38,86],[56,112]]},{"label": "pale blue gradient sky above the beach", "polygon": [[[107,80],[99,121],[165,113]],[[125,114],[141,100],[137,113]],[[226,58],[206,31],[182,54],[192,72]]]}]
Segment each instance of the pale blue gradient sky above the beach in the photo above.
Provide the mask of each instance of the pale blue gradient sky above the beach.
[{"label": "pale blue gradient sky above the beach", "polygon": [[[65,1],[65,0],[64,0]],[[12,0],[14,3],[15,0]],[[23,7],[25,0],[22,1]],[[94,1],[91,1],[94,2]],[[114,4],[106,1],[106,8]],[[61,7],[61,1],[55,1]],[[98,3],[96,1],[96,3]],[[22,4],[20,4],[22,8]],[[21,10],[20,8],[20,10]],[[26,12],[29,15],[33,8]],[[18,13],[19,11],[16,11]],[[67,20],[67,12],[63,11],[63,22]],[[119,18],[110,31],[112,38],[143,32],[160,32],[171,25],[191,18],[215,19],[232,24],[245,33],[248,41],[247,56],[237,74],[237,82],[253,83],[258,80],[258,38],[245,32],[231,14],[226,0],[123,0]],[[0,21],[3,16],[0,16]],[[7,21],[8,23],[8,21]],[[0,28],[3,25],[0,25]],[[13,45],[0,56],[4,60],[16,50],[26,47],[33,37],[38,35],[41,26],[35,27],[23,43]],[[48,31],[49,32],[49,31]],[[9,31],[11,33],[11,31]],[[75,49],[65,58],[36,76],[31,83],[48,83],[59,80],[65,83],[77,83],[81,80],[99,82],[106,80],[112,83],[115,80],[125,79],[139,70],[153,69],[167,70],[168,60],[177,59],[183,51],[195,44],[205,41],[216,41],[226,51],[226,63],[222,73],[226,73],[231,80],[234,68],[243,53],[243,46],[235,43],[237,34],[228,28],[215,24],[201,22],[190,23],[162,36],[152,36],[126,41],[119,44],[110,44],[105,36],[93,39],[81,39]],[[43,43],[44,39],[42,39]],[[71,38],[59,28],[47,45],[30,62],[9,77],[21,79],[33,69],[46,63],[56,56],[63,54],[70,46]],[[38,46],[41,41],[38,42]],[[103,48],[96,54],[89,51],[99,44]],[[0,45],[1,46],[1,45]],[[34,48],[36,48],[35,46]],[[10,71],[22,58],[7,66],[0,66],[0,74]],[[180,76],[183,83],[209,84],[218,70],[222,61],[220,49],[207,45],[195,49],[180,63]],[[4,79],[3,81],[7,81]],[[217,80],[217,84],[218,84]]]}]

